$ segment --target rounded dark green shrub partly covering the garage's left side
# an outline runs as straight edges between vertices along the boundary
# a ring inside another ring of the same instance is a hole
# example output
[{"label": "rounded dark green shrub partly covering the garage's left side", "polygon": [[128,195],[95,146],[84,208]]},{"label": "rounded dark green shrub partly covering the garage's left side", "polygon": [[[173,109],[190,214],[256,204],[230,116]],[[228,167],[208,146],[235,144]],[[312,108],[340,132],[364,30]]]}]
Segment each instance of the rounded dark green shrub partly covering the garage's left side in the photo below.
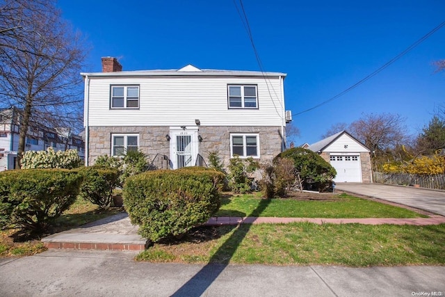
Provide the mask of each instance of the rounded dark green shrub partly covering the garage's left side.
[{"label": "rounded dark green shrub partly covering the garage's left side", "polygon": [[312,150],[294,147],[278,154],[276,158],[280,157],[293,159],[296,174],[300,175],[304,188],[325,191],[332,184],[332,179],[337,175],[330,163],[327,163]]}]

